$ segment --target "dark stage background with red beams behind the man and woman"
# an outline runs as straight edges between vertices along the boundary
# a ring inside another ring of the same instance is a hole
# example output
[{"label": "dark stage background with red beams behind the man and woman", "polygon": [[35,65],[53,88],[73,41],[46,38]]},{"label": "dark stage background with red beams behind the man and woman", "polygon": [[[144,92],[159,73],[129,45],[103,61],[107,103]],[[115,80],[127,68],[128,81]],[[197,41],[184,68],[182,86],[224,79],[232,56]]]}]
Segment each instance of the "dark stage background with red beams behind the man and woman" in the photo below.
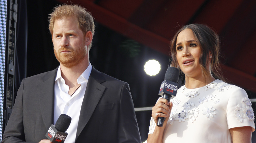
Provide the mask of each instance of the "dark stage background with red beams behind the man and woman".
[{"label": "dark stage background with red beams behind the man and woman", "polygon": [[[48,30],[48,14],[62,2],[67,3],[64,0],[18,2],[18,79],[53,70],[59,65]],[[170,65],[169,41],[180,25],[189,23],[204,23],[216,30],[222,42],[224,76],[231,83],[244,88],[250,99],[256,98],[255,1],[72,2],[87,8],[95,17],[91,64],[101,72],[128,82],[135,108],[151,107],[159,98],[159,87]],[[156,76],[144,72],[144,64],[150,59],[156,59],[161,64],[160,73]],[[145,141],[151,111],[138,111],[136,116],[142,141]]]}]

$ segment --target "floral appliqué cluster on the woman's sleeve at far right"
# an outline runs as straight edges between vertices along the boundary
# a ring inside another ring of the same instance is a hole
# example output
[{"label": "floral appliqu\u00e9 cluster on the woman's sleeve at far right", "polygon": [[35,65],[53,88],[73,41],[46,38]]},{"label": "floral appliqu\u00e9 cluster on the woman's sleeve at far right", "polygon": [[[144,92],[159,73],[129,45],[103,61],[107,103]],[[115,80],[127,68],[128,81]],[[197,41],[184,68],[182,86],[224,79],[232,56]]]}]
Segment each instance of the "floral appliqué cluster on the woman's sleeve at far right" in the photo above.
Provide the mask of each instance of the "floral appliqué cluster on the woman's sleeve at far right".
[{"label": "floral appliqu\u00e9 cluster on the woman's sleeve at far right", "polygon": [[236,119],[242,122],[243,119],[247,118],[254,122],[254,113],[251,107],[252,103],[250,99],[248,97],[245,97],[244,99],[242,99],[242,104],[244,104],[245,106],[241,106],[240,104],[236,106],[236,110],[235,110]]}]

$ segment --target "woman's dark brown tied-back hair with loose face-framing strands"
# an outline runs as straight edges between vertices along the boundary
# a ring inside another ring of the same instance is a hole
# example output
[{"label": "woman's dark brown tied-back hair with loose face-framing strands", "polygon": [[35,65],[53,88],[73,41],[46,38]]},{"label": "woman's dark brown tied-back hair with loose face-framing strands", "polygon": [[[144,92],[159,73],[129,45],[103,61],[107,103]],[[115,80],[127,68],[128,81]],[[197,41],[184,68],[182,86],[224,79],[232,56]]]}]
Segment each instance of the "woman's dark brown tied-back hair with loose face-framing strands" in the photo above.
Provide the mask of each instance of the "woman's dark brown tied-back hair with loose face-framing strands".
[{"label": "woman's dark brown tied-back hair with loose face-framing strands", "polygon": [[[200,44],[200,59],[199,63],[202,69],[202,72],[205,75],[210,75],[212,73],[213,77],[216,79],[224,80],[223,76],[220,74],[220,40],[217,33],[208,27],[205,24],[188,24],[182,26],[174,35],[173,39],[170,42],[171,48],[171,66],[179,68],[179,64],[176,57],[176,42],[178,34],[184,29],[191,29],[194,33],[195,38],[198,40]],[[206,64],[208,62],[209,53],[212,54],[211,60],[211,71],[208,71],[206,68]]]}]

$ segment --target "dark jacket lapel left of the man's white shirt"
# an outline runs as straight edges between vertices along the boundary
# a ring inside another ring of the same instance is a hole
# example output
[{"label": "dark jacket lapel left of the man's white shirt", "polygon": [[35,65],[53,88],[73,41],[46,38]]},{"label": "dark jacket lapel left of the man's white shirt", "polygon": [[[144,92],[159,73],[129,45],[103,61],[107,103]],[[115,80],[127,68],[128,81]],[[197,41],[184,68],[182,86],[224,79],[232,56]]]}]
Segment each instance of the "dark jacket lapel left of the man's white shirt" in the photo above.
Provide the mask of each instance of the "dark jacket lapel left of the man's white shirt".
[{"label": "dark jacket lapel left of the man's white shirt", "polygon": [[40,110],[46,129],[53,124],[54,114],[54,81],[57,68],[53,71],[47,72],[38,81],[38,98],[40,99]]}]

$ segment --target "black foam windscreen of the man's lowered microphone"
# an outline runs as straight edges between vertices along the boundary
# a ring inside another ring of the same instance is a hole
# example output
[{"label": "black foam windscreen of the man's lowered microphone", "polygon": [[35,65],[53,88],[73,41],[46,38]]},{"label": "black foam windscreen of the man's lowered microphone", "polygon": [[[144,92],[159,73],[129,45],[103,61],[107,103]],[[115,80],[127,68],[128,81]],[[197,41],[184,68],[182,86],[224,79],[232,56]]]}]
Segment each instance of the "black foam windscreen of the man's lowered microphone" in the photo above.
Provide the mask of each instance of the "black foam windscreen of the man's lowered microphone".
[{"label": "black foam windscreen of the man's lowered microphone", "polygon": [[66,114],[61,114],[56,121],[55,128],[60,132],[65,132],[69,128],[71,117]]}]

